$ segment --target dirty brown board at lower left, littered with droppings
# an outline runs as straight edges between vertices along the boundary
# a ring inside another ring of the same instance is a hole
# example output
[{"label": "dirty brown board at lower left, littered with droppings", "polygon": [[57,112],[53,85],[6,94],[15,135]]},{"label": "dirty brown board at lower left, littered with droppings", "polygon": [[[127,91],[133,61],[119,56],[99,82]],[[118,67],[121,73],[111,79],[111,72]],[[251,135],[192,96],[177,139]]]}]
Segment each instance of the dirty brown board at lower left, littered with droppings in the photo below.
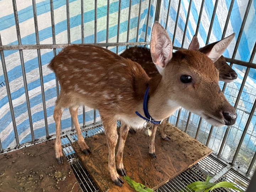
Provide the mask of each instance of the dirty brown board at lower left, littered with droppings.
[{"label": "dirty brown board at lower left, littered with droppings", "polygon": [[67,159],[55,160],[54,142],[1,154],[0,191],[82,192]]}]

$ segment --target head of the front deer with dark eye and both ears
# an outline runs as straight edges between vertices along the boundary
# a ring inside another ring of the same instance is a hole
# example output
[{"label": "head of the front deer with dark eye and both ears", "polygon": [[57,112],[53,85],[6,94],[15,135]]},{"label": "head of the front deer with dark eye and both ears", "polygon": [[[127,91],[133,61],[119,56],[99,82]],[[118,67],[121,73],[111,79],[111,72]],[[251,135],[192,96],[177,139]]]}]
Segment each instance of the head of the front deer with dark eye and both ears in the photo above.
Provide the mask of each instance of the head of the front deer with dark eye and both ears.
[{"label": "head of the front deer with dark eye and both ears", "polygon": [[158,22],[154,23],[151,57],[162,75],[161,86],[165,87],[167,106],[181,106],[214,126],[235,123],[237,114],[220,90],[219,72],[213,64],[233,37],[231,34],[217,42],[206,54],[197,51],[195,41],[191,42],[190,49],[172,53],[169,35]]}]

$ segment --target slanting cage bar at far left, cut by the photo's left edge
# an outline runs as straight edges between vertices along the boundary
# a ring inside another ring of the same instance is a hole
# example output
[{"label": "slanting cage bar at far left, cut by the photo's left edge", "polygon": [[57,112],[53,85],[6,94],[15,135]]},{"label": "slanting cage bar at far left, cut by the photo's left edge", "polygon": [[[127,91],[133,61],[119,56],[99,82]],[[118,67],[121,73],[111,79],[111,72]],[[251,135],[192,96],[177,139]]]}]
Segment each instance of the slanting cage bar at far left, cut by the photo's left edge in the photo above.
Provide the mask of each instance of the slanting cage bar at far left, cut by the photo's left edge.
[{"label": "slanting cage bar at far left, cut by the photo's left edge", "polygon": [[[1,34],[0,34],[0,46],[1,45],[2,45],[2,39],[1,39]],[[10,107],[10,112],[11,112],[12,126],[14,128],[14,135],[15,135],[16,145],[19,146],[20,141],[18,139],[18,132],[17,132],[17,126],[16,126],[16,121],[15,121],[15,116],[14,116],[14,109],[13,109],[13,106],[12,106],[11,91],[10,91],[8,74],[7,74],[6,64],[5,64],[4,51],[0,50],[0,56],[1,56],[2,69],[3,69],[3,73],[4,73],[4,78],[5,78],[6,92],[7,92],[7,97],[8,97],[8,102],[9,102],[9,107]]]}]

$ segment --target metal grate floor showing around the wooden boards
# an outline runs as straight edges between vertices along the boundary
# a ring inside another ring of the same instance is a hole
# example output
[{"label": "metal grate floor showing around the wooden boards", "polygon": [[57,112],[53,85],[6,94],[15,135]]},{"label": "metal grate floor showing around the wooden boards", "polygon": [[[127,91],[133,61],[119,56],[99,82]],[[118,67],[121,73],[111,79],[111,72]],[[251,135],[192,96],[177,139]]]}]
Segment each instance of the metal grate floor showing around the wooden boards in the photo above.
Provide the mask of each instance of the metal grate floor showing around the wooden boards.
[{"label": "metal grate floor showing around the wooden boards", "polygon": [[[120,124],[118,123],[118,126]],[[81,129],[84,137],[91,137],[99,133],[103,133],[104,129],[101,124],[88,126]],[[96,184],[90,177],[89,173],[85,169],[82,162],[78,159],[75,154],[71,143],[77,140],[75,132],[68,133],[62,136],[62,146],[64,154],[68,159],[70,166],[72,167],[74,174],[82,188],[86,192],[99,191]],[[169,182],[165,183],[163,186],[158,188],[158,192],[178,192],[178,191],[188,191],[191,192],[186,186],[194,181],[205,181],[207,175],[213,177],[211,182],[229,181],[237,185],[237,187],[243,191],[246,190],[249,185],[250,179],[246,178],[238,171],[233,169],[232,166],[221,162],[214,155],[209,155],[203,160],[199,161],[197,164],[193,165],[186,171],[182,172],[180,175],[176,176]],[[230,189],[215,189],[215,192],[236,192],[236,190]]]}]

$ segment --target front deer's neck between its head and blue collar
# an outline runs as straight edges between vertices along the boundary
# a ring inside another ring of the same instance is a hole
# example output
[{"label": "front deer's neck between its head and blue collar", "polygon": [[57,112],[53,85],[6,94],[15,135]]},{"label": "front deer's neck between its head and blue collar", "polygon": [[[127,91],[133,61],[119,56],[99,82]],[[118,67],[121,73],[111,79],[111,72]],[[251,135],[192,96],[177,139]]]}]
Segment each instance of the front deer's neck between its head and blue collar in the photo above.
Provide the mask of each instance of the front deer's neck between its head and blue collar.
[{"label": "front deer's neck between its head and blue collar", "polygon": [[162,76],[156,76],[149,81],[148,112],[155,121],[160,121],[169,117],[180,106],[170,97],[166,90],[167,85],[162,80]]}]

